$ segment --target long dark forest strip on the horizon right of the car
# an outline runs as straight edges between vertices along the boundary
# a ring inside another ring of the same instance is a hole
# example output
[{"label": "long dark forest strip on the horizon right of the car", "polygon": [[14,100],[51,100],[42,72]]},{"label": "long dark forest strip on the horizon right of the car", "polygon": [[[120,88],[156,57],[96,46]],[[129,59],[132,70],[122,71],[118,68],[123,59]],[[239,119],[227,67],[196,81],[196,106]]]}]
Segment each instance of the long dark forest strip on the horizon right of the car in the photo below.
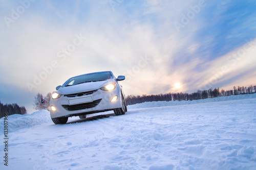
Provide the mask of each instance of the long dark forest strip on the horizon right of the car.
[{"label": "long dark forest strip on the horizon right of the car", "polygon": [[236,87],[234,86],[232,90],[220,90],[219,88],[215,88],[212,90],[198,90],[197,92],[188,94],[188,93],[166,93],[166,94],[152,94],[146,95],[127,95],[126,96],[126,105],[134,105],[137,103],[143,102],[154,102],[154,101],[193,101],[199,99],[207,99],[207,98],[217,98],[219,96],[228,96],[228,95],[238,95],[238,94],[252,94],[256,92],[256,86],[249,87]]}]

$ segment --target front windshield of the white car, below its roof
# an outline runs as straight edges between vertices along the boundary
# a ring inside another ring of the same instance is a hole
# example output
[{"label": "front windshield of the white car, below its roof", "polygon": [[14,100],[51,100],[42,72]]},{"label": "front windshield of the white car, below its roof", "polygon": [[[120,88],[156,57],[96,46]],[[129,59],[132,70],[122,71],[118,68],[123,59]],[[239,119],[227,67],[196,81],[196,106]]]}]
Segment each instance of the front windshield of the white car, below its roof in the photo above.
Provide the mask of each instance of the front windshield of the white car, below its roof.
[{"label": "front windshield of the white car, below its roof", "polygon": [[88,83],[88,82],[98,82],[98,81],[108,80],[110,78],[111,78],[110,72],[95,72],[88,75],[81,75],[81,76],[70,78],[62,86],[73,86],[73,85]]}]

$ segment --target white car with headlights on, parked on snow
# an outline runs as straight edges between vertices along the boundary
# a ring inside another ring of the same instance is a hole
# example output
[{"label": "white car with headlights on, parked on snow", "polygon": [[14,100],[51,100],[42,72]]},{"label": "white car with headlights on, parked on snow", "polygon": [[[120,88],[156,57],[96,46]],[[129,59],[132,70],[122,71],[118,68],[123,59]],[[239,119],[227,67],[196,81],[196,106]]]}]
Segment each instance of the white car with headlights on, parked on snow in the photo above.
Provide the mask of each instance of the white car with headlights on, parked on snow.
[{"label": "white car with headlights on, parked on snow", "polygon": [[50,101],[51,118],[54,124],[66,124],[68,117],[86,118],[87,114],[114,110],[116,115],[127,111],[125,95],[111,71],[93,72],[72,77],[62,86],[57,86]]}]

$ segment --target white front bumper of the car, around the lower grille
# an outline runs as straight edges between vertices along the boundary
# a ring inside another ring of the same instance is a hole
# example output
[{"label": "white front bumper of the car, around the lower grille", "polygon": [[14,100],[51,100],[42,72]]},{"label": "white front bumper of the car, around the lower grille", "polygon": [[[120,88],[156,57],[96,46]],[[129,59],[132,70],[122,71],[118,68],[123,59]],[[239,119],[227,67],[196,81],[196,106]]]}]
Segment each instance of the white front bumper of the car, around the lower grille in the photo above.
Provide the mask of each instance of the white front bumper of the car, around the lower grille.
[{"label": "white front bumper of the car, around the lower grille", "polygon": [[[117,100],[115,102],[111,102],[115,95],[117,96]],[[119,86],[116,86],[114,90],[110,91],[98,89],[94,93],[83,95],[82,97],[84,96],[92,96],[93,101],[88,103],[69,105],[69,100],[77,99],[80,97],[68,97],[61,95],[59,99],[51,99],[50,106],[54,106],[56,109],[56,111],[50,110],[51,117],[56,118],[78,116],[82,114],[103,112],[122,107],[122,94]]]}]

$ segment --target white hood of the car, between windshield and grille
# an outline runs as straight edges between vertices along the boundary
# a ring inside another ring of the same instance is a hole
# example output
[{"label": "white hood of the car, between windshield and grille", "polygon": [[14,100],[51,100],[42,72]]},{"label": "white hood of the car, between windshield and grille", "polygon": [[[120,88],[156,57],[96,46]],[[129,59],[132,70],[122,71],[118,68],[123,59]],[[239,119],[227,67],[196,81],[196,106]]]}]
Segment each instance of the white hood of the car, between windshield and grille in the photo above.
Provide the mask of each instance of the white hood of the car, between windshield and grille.
[{"label": "white hood of the car, between windshield and grille", "polygon": [[92,90],[97,90],[110,82],[114,82],[113,79],[105,80],[105,81],[99,81],[99,82],[88,82],[88,83],[82,83],[82,84],[77,84],[73,86],[67,86],[67,87],[60,87],[57,90],[57,93],[60,94],[73,94],[73,93],[79,93],[79,92],[84,92],[84,91],[92,91]]}]

